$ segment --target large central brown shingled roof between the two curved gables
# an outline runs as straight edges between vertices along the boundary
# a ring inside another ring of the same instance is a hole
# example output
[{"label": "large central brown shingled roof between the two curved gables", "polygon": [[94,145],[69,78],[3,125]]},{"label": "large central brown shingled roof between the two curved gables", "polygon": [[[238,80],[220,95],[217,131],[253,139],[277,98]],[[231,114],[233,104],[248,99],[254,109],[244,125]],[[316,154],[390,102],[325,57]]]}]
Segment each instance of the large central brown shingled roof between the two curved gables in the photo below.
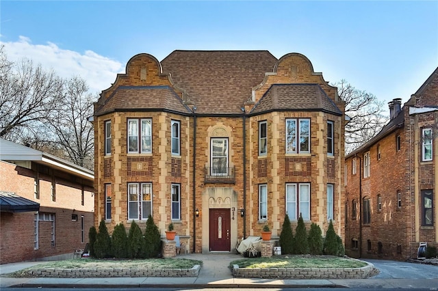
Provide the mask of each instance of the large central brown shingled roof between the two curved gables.
[{"label": "large central brown shingled roof between the two curved gables", "polygon": [[173,51],[161,64],[185,89],[196,113],[240,114],[276,61],[269,51]]}]

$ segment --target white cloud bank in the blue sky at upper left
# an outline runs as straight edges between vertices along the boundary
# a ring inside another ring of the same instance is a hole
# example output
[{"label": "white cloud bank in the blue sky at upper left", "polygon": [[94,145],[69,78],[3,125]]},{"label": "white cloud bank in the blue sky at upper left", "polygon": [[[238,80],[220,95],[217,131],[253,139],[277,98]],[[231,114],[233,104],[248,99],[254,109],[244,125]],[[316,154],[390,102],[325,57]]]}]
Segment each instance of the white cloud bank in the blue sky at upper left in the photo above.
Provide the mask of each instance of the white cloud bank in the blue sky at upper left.
[{"label": "white cloud bank in the blue sky at upper left", "polygon": [[100,93],[116,81],[116,74],[125,72],[125,64],[114,61],[93,51],[78,53],[62,49],[52,42],[32,44],[25,36],[17,42],[0,42],[10,61],[18,61],[24,57],[41,64],[44,69],[53,69],[62,78],[79,76],[86,80],[90,92]]}]

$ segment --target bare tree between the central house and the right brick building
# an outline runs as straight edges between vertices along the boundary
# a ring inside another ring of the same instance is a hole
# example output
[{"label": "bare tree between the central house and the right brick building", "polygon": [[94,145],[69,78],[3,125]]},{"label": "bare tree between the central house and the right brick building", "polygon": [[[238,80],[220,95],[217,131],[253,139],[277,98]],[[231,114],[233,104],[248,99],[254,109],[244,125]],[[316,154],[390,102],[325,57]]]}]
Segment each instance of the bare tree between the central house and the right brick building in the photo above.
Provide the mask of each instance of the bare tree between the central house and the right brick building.
[{"label": "bare tree between the central house and the right brick building", "polygon": [[383,114],[385,104],[344,79],[332,85],[337,87],[339,97],[345,102],[345,113],[350,117],[345,128],[345,151],[348,154],[381,131],[388,120]]}]

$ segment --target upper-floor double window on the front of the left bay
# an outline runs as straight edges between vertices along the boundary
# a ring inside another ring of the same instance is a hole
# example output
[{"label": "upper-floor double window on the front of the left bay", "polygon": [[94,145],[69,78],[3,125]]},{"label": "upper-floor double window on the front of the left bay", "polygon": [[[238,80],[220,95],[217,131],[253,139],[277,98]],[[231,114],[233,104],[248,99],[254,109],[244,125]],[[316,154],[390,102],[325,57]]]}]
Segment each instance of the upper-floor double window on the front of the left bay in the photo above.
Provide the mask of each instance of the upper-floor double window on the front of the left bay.
[{"label": "upper-floor double window on the front of the left bay", "polygon": [[128,153],[150,154],[152,152],[152,120],[128,120]]}]

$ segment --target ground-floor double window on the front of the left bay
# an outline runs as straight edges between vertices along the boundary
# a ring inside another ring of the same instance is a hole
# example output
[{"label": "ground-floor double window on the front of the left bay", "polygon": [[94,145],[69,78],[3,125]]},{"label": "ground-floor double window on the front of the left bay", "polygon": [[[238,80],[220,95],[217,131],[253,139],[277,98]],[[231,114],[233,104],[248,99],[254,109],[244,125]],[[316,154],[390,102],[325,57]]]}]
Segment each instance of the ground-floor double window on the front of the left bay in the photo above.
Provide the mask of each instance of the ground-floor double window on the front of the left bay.
[{"label": "ground-floor double window on the front of the left bay", "polygon": [[128,183],[128,219],[147,220],[152,215],[152,184]]}]

